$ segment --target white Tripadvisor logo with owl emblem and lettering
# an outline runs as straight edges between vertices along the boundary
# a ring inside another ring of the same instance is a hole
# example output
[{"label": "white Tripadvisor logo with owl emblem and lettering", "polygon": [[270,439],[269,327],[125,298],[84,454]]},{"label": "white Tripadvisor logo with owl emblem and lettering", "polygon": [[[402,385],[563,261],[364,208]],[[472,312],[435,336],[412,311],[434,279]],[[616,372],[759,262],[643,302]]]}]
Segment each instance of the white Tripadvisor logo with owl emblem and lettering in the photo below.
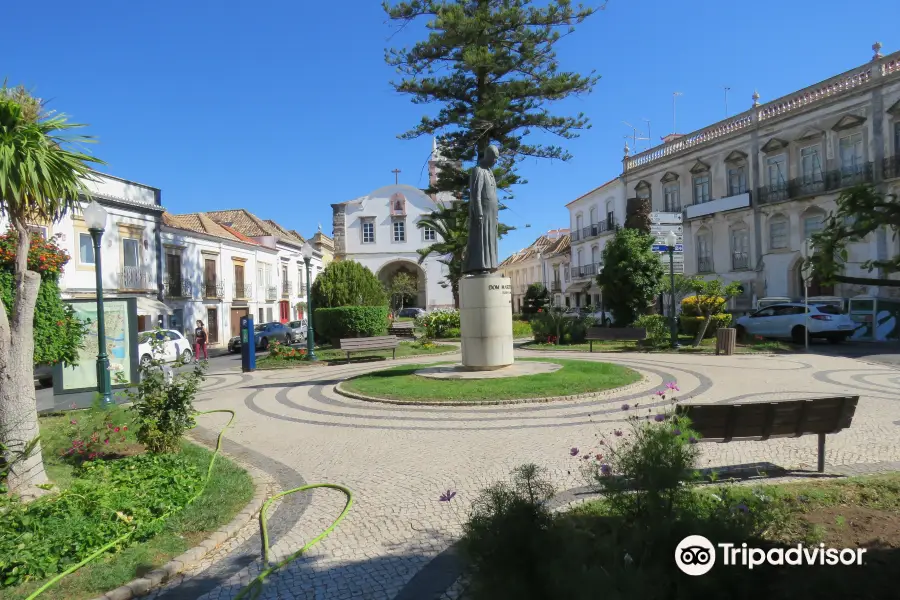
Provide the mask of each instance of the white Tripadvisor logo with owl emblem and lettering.
[{"label": "white Tripadvisor logo with owl emblem and lettering", "polygon": [[[760,565],[862,565],[865,548],[826,548],[825,544],[806,547],[797,544],[790,548],[751,548],[746,543],[716,544],[724,566],[747,567]],[[716,564],[716,546],[702,535],[689,535],[675,548],[675,564],[687,575],[704,575]]]}]

